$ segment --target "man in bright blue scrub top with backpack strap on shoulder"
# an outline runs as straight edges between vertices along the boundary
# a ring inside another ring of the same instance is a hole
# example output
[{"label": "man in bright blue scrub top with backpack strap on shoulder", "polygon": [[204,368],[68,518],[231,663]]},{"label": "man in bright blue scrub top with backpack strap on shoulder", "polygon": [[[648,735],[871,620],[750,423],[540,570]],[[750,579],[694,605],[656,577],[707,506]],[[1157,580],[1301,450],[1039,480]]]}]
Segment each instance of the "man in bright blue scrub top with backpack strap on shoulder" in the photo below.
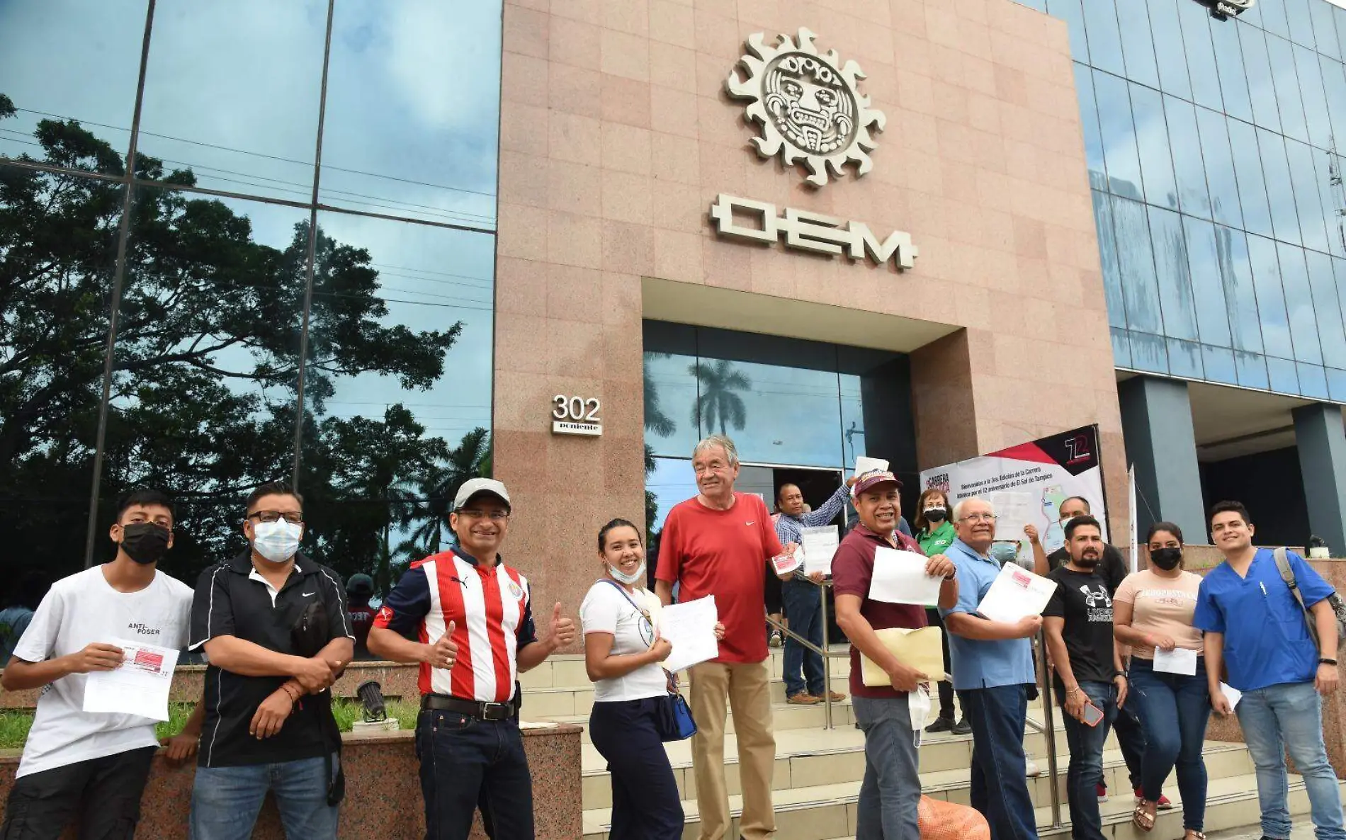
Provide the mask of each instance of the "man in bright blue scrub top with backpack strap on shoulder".
[{"label": "man in bright blue scrub top with backpack strap on shoulder", "polygon": [[1211,707],[1229,713],[1229,699],[1219,691],[1221,662],[1229,668],[1229,684],[1242,692],[1238,724],[1257,767],[1263,837],[1289,837],[1288,747],[1304,777],[1318,840],[1342,840],[1341,792],[1323,744],[1319,696],[1337,689],[1337,619],[1327,603],[1333,587],[1303,557],[1287,552],[1318,627],[1319,649],[1304,625],[1304,611],[1281,580],[1272,549],[1253,548],[1248,509],[1238,502],[1217,503],[1210,509],[1210,536],[1225,561],[1201,582],[1193,623],[1206,631]]}]

